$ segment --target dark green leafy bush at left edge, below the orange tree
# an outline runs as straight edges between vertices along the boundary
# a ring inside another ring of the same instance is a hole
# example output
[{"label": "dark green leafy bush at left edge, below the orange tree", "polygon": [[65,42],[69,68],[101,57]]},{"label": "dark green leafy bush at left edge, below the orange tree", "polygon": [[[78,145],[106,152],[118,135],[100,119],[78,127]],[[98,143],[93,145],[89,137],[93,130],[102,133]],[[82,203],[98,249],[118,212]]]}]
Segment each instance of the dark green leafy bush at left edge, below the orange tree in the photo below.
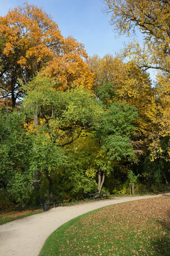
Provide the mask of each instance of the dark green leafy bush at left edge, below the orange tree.
[{"label": "dark green leafy bush at left edge, below the orange tree", "polygon": [[14,111],[0,113],[0,180],[8,196],[18,204],[25,204],[34,181],[31,169],[32,141],[25,136],[25,117]]}]

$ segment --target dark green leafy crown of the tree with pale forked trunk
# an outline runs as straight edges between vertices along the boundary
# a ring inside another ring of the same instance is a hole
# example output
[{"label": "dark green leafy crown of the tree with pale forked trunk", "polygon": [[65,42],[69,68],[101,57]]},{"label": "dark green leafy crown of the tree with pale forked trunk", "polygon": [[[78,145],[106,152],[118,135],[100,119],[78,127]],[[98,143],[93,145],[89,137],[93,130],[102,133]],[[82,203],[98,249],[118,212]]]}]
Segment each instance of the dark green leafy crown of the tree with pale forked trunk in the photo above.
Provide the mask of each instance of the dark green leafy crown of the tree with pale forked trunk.
[{"label": "dark green leafy crown of the tree with pale forked trunk", "polygon": [[119,102],[113,103],[105,113],[102,148],[111,160],[134,157],[130,134],[134,132],[132,122],[136,117],[136,108]]}]

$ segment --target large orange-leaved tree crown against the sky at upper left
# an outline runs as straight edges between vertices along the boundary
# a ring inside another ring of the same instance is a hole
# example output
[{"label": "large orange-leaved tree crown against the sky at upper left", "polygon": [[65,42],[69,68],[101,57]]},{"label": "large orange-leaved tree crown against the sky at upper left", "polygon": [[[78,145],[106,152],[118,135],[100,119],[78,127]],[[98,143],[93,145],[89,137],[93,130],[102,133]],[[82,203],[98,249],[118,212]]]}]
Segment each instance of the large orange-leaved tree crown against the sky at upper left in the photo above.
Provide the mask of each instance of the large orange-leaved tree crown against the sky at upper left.
[{"label": "large orange-leaved tree crown against the sky at upper left", "polygon": [[55,77],[61,90],[77,84],[90,88],[93,75],[83,61],[83,44],[64,38],[51,16],[42,8],[24,3],[0,17],[0,97],[23,95],[22,84],[43,70]]}]

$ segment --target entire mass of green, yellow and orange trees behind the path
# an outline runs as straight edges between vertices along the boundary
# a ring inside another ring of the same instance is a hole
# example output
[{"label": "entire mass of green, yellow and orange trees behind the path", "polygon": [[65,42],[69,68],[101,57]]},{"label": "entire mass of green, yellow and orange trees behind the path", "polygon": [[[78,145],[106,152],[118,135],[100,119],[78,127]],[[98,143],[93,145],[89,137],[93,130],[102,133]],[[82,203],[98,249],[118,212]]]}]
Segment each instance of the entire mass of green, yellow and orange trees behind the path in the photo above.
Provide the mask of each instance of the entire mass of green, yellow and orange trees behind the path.
[{"label": "entire mass of green, yellow and orange trees behind the path", "polygon": [[[139,28],[143,46],[133,41],[116,57],[88,58],[42,8],[26,2],[0,17],[0,189],[7,205],[37,204],[49,194],[82,199],[103,185],[125,194],[129,182],[141,193],[158,191],[170,180],[170,4],[104,2],[113,29],[130,35]],[[150,67],[159,70],[154,86]]]}]

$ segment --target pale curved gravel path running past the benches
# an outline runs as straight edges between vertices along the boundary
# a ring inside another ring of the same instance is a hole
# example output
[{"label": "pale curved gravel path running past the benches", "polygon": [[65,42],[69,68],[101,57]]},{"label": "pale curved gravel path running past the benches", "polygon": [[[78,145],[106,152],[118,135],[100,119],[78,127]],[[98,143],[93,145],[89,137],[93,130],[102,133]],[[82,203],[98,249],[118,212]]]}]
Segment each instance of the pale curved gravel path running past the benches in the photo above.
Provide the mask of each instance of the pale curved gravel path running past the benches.
[{"label": "pale curved gravel path running past the benches", "polygon": [[167,194],[115,198],[69,207],[57,207],[48,212],[8,222],[0,226],[0,255],[38,256],[45,239],[72,218],[103,206],[164,195]]}]

